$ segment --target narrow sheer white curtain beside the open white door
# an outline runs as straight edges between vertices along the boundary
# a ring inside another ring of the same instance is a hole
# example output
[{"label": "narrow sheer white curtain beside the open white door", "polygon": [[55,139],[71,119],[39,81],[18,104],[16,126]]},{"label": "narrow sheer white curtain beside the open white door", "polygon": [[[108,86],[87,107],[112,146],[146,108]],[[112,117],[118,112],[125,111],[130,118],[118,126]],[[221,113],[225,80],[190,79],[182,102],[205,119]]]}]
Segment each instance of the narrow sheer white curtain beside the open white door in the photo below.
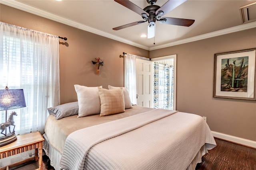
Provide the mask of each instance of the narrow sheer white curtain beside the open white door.
[{"label": "narrow sheer white curtain beside the open white door", "polygon": [[128,88],[132,104],[137,104],[136,55],[124,55],[124,86]]}]

